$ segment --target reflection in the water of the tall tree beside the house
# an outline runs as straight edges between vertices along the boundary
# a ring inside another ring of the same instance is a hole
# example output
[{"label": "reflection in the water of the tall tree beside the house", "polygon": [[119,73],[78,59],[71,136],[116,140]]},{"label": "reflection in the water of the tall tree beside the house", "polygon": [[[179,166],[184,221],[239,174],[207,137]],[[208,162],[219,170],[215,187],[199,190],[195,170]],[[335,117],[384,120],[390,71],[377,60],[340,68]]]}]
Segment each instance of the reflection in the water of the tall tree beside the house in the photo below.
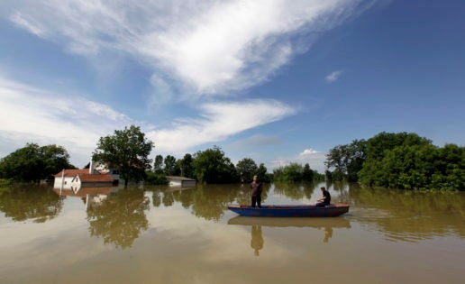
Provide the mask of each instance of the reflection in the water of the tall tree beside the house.
[{"label": "reflection in the water of the tall tree beside the house", "polygon": [[87,209],[87,221],[91,236],[102,237],[104,243],[114,243],[122,249],[131,247],[149,221],[145,210],[150,200],[139,188],[124,188],[110,194],[98,204]]}]

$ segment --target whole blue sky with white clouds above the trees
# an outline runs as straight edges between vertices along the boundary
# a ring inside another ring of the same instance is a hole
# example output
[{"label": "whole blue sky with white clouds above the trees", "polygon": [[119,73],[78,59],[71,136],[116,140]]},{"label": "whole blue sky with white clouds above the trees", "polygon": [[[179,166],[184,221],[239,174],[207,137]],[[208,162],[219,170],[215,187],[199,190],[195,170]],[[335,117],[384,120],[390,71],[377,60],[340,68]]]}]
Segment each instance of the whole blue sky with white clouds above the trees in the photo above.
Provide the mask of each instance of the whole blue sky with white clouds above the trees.
[{"label": "whole blue sky with white clouds above the trees", "polygon": [[0,3],[0,157],[65,147],[78,168],[136,125],[151,157],[324,172],[387,133],[465,144],[463,0]]}]

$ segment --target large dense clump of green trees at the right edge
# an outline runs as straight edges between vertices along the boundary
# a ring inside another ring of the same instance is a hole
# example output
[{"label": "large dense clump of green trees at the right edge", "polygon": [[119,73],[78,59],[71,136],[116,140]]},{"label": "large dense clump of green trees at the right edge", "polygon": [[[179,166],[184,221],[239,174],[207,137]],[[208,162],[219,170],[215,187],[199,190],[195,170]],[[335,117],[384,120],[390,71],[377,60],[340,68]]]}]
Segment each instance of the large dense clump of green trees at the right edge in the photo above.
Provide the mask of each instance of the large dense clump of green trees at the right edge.
[{"label": "large dense clump of green trees at the right edge", "polygon": [[327,179],[363,186],[465,190],[465,147],[437,147],[416,133],[383,132],[338,145],[326,155],[325,165]]}]

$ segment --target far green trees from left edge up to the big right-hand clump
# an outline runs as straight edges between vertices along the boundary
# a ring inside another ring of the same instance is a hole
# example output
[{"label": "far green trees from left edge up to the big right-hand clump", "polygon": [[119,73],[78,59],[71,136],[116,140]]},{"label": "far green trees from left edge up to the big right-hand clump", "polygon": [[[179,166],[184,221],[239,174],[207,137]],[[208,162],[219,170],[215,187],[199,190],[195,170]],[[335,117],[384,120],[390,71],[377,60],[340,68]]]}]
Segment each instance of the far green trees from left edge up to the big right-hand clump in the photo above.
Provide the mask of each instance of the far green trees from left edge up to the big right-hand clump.
[{"label": "far green trees from left edge up to the big right-hand clump", "polygon": [[[167,176],[182,176],[202,183],[248,183],[254,175],[262,182],[314,181],[324,175],[310,169],[308,164],[291,163],[269,173],[263,163],[244,158],[233,164],[218,146],[186,153],[182,159],[172,155],[149,158],[154,143],[145,137],[140,127],[131,125],[114,134],[101,137],[92,153],[92,160],[117,169],[124,185],[128,180],[144,180],[147,184],[166,184]],[[152,164],[153,162],[153,164]],[[28,143],[0,160],[0,180],[14,182],[39,182],[53,179],[61,169],[77,169],[69,162],[68,151],[57,145],[39,146]]]}]

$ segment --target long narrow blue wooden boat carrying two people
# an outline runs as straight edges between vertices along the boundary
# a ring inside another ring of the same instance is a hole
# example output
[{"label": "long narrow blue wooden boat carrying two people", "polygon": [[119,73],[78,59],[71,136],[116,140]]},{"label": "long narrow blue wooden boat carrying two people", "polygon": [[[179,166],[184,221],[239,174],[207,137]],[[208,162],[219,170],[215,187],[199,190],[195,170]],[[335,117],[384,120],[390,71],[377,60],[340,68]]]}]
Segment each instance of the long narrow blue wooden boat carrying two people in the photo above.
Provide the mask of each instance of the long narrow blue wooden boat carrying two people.
[{"label": "long narrow blue wooden boat carrying two people", "polygon": [[229,205],[228,209],[242,216],[253,217],[334,217],[349,212],[349,205],[345,203],[324,207],[315,205],[267,205],[261,207]]}]

